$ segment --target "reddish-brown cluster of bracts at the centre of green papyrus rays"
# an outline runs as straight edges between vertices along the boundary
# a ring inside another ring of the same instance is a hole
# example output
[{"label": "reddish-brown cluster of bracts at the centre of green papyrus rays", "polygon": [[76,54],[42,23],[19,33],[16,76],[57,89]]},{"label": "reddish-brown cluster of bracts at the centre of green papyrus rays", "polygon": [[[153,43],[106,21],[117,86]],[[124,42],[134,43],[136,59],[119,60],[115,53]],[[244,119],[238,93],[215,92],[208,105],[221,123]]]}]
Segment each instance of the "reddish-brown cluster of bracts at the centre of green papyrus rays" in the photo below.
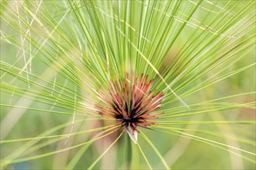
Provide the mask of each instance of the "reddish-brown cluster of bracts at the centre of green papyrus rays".
[{"label": "reddish-brown cluster of bracts at the centre of green papyrus rays", "polygon": [[156,119],[157,114],[152,113],[161,107],[163,93],[154,93],[151,90],[154,80],[147,80],[147,76],[143,74],[135,77],[134,74],[129,77],[126,73],[126,80],[119,80],[115,83],[110,82],[109,93],[99,94],[101,105],[97,105],[99,114],[104,117],[115,118],[123,127],[126,128],[128,134],[138,131],[137,126],[147,128]]}]

